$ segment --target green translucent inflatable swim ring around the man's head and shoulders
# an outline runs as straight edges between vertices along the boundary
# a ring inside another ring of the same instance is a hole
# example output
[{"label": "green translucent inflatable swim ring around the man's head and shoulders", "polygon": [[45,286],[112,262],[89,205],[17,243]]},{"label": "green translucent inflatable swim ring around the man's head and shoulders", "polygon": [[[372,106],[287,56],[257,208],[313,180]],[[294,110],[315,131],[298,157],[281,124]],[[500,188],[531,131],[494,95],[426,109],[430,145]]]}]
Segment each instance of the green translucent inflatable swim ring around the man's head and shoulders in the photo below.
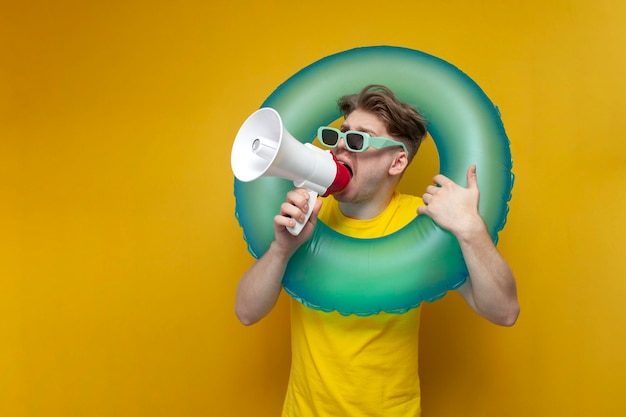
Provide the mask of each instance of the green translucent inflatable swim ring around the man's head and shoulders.
[{"label": "green translucent inflatable swim ring around the man's head and shoulders", "polygon": [[[467,169],[477,166],[479,212],[497,242],[514,179],[509,141],[498,109],[451,64],[412,49],[356,48],[300,70],[261,107],[276,109],[294,137],[310,142],[318,126],[341,116],[336,99],[367,84],[386,85],[420,109],[442,174],[466,185]],[[273,217],[291,188],[293,183],[281,178],[235,179],[236,216],[253,256],[265,253],[274,239]],[[428,216],[377,239],[350,238],[320,221],[289,262],[283,287],[308,307],[367,316],[403,313],[437,300],[466,277],[458,242]]]}]

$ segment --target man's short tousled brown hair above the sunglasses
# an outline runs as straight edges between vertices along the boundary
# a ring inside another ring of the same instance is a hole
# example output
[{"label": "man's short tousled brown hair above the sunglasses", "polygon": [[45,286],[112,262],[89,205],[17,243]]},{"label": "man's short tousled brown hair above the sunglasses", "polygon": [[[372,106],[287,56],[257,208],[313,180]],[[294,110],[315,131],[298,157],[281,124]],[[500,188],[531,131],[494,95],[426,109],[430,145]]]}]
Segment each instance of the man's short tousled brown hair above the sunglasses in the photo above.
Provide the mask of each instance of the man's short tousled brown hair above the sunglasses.
[{"label": "man's short tousled brown hair above the sunglasses", "polygon": [[391,135],[400,139],[413,159],[426,137],[426,119],[413,106],[401,102],[393,91],[384,85],[371,84],[357,94],[337,100],[339,110],[348,117],[354,110],[374,113],[382,119]]}]

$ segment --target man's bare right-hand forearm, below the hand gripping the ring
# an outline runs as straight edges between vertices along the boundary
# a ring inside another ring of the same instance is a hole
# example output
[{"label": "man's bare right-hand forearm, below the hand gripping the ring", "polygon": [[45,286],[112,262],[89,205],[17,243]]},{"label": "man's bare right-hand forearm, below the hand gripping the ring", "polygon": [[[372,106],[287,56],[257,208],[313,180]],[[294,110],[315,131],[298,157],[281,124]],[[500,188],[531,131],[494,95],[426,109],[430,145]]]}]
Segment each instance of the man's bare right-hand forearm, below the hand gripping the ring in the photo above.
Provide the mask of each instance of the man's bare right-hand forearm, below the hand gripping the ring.
[{"label": "man's bare right-hand forearm, below the hand gripping the ring", "polygon": [[487,229],[476,227],[457,239],[469,271],[468,282],[459,288],[459,293],[487,320],[513,325],[519,315],[515,277]]}]

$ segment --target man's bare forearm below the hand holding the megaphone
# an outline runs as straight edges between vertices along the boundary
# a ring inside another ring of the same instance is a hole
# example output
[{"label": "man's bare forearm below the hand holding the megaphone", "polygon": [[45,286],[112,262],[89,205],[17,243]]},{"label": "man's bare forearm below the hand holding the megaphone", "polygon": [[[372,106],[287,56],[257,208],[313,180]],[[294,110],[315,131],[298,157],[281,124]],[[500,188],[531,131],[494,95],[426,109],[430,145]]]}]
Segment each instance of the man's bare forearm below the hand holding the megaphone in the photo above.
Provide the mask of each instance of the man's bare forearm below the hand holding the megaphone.
[{"label": "man's bare forearm below the hand holding the megaphone", "polygon": [[241,277],[235,299],[235,314],[248,326],[265,317],[276,304],[289,257],[274,244]]}]

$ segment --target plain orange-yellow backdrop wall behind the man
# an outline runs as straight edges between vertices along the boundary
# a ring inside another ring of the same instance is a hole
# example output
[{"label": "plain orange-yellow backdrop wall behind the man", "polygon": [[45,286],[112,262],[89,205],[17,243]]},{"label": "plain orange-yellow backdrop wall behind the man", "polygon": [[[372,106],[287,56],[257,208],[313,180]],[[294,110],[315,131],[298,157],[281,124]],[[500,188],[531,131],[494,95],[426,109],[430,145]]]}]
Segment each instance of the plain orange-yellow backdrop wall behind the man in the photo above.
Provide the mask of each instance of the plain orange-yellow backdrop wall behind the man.
[{"label": "plain orange-yellow backdrop wall behind the man", "polygon": [[456,65],[512,142],[522,314],[425,307],[424,417],[626,415],[626,3],[8,3],[0,415],[278,415],[287,297],[234,317],[230,148],[280,83],[366,45]]}]

